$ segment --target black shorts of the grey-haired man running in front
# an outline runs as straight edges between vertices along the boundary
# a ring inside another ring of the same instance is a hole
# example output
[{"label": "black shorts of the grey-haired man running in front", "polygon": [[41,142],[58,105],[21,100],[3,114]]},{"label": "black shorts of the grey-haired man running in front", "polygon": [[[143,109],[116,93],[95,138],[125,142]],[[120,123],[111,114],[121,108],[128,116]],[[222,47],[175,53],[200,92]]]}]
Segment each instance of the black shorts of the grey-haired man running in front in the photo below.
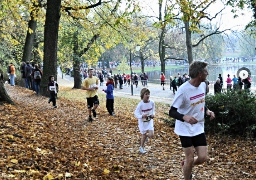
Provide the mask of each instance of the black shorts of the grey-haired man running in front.
[{"label": "black shorts of the grey-haired man running in front", "polygon": [[180,136],[180,142],[182,147],[198,147],[198,146],[207,146],[205,133],[196,135],[196,136]]}]

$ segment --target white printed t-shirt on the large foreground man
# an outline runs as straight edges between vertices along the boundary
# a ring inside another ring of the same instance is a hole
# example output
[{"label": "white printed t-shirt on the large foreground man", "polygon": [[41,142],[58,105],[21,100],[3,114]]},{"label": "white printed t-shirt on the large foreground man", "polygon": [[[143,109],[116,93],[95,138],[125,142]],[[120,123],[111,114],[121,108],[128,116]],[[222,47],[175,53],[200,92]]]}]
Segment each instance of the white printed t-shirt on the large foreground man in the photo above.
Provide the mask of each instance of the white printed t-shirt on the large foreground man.
[{"label": "white printed t-shirt on the large foreground man", "polygon": [[171,106],[177,108],[180,114],[194,116],[197,124],[176,120],[174,133],[181,136],[195,136],[204,133],[205,114],[205,82],[197,88],[185,82],[178,88]]}]

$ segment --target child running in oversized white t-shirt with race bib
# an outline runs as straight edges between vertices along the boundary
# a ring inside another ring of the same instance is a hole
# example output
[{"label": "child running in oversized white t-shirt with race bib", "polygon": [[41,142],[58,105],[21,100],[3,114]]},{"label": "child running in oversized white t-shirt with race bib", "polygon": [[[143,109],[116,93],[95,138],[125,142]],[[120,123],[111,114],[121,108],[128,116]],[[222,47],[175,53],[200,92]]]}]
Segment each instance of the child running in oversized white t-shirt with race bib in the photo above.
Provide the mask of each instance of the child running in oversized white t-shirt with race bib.
[{"label": "child running in oversized white t-shirt with race bib", "polygon": [[140,92],[141,102],[137,105],[134,115],[138,118],[139,130],[142,134],[141,144],[139,151],[144,154],[145,142],[149,141],[149,137],[154,137],[154,116],[155,116],[155,102],[149,100],[150,90],[148,88],[142,88]]}]

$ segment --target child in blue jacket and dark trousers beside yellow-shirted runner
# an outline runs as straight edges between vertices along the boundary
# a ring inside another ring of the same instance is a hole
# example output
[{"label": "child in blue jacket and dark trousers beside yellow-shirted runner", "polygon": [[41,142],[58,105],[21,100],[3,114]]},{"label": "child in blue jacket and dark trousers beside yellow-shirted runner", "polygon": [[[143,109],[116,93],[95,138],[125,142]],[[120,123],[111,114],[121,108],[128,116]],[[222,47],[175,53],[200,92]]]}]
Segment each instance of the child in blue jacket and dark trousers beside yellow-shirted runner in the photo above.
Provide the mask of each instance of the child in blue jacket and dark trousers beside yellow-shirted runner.
[{"label": "child in blue jacket and dark trousers beside yellow-shirted runner", "polygon": [[111,116],[115,116],[115,112],[114,112],[114,94],[113,94],[113,90],[114,90],[114,79],[111,78],[110,76],[107,77],[107,83],[106,83],[107,89],[106,90],[102,90],[106,93],[106,108],[108,113]]}]

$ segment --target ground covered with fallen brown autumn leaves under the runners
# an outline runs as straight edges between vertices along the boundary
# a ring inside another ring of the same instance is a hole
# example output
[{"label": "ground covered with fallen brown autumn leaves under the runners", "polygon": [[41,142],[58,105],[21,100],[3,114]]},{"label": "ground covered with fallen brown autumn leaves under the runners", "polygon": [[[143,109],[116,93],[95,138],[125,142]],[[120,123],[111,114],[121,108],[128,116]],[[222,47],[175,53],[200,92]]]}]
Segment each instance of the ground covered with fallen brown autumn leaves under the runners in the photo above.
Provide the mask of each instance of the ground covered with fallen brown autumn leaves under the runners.
[{"label": "ground covered with fallen brown autumn leaves under the runners", "polygon": [[[139,153],[134,110],[139,99],[115,97],[112,117],[99,94],[98,117],[88,122],[84,91],[61,88],[57,109],[48,98],[19,86],[5,88],[17,106],[0,105],[1,180],[181,180],[184,154],[156,103],[155,137]],[[70,99],[72,98],[72,99]],[[207,134],[208,161],[193,180],[255,180],[256,143]]]}]

